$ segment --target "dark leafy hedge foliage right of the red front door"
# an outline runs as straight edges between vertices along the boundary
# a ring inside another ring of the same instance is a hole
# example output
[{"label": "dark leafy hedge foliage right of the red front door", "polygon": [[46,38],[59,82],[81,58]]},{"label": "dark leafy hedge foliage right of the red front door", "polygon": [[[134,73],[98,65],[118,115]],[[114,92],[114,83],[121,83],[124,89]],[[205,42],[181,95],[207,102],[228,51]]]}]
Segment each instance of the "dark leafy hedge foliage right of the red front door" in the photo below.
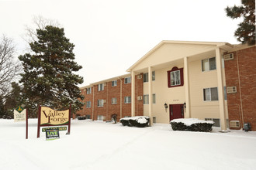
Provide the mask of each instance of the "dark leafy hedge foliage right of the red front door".
[{"label": "dark leafy hedge foliage right of the red front door", "polygon": [[186,125],[183,122],[171,121],[171,128],[173,131],[205,131],[209,132],[213,130],[213,122],[195,122],[191,125]]}]

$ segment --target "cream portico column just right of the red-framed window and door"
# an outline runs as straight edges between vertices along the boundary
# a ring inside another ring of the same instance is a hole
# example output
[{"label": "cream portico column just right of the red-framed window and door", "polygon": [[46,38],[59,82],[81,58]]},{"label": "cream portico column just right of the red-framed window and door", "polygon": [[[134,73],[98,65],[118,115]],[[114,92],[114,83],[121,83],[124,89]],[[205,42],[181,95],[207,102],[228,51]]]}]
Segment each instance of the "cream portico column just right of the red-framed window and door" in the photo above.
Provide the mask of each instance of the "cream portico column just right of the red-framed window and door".
[{"label": "cream portico column just right of the red-framed window and door", "polygon": [[190,90],[189,90],[189,61],[188,57],[184,57],[184,86],[185,86],[185,118],[190,118]]}]

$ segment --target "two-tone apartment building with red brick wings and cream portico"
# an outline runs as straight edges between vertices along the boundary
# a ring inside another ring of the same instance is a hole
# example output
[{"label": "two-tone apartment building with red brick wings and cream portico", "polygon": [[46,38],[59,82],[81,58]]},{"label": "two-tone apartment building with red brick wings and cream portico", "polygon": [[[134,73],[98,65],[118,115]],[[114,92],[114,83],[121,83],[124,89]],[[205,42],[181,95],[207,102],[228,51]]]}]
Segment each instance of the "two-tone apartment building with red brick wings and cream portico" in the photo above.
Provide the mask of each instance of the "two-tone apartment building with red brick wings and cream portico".
[{"label": "two-tone apartment building with red brick wings and cream portico", "polygon": [[256,131],[255,59],[255,46],[162,41],[126,70],[130,74],[81,87],[91,107],[79,114],[103,121],[144,115],[151,125],[195,117],[222,131],[244,123]]}]

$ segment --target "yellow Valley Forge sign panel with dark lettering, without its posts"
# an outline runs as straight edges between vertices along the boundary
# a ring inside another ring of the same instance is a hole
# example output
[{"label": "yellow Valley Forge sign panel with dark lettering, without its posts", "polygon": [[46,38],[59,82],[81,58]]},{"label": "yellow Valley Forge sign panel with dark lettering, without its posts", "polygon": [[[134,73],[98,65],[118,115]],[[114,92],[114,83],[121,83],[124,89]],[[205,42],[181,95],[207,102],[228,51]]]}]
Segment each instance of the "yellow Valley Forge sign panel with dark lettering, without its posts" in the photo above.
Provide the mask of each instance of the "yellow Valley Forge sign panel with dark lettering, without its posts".
[{"label": "yellow Valley Forge sign panel with dark lettering, without its posts", "polygon": [[40,125],[61,125],[67,124],[69,110],[53,110],[50,107],[41,107]]}]

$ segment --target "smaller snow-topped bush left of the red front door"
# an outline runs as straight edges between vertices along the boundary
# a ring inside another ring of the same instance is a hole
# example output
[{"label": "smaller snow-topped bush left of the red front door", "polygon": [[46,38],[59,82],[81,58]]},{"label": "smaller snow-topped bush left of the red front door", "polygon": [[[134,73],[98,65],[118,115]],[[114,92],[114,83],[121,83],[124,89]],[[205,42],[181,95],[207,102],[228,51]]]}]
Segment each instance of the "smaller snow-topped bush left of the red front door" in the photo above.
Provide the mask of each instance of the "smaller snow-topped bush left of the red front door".
[{"label": "smaller snow-topped bush left of the red front door", "polygon": [[148,126],[149,117],[137,116],[137,117],[123,117],[120,119],[123,126],[135,126],[138,128],[144,128]]}]

